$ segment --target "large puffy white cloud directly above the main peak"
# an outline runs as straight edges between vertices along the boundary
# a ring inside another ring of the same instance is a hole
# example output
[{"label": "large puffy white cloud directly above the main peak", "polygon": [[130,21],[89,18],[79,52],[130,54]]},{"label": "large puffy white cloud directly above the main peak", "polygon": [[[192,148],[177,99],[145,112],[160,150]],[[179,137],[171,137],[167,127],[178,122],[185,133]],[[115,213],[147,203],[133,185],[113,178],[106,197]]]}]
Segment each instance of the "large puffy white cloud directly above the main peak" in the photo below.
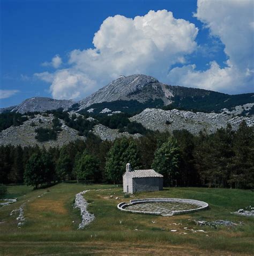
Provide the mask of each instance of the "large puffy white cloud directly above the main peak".
[{"label": "large puffy white cloud directly above the main peak", "polygon": [[94,48],[72,50],[68,69],[35,76],[51,83],[57,99],[84,97],[119,75],[141,73],[163,81],[171,65],[185,63],[195,51],[197,33],[194,24],[167,10],[108,17],[94,35]]}]

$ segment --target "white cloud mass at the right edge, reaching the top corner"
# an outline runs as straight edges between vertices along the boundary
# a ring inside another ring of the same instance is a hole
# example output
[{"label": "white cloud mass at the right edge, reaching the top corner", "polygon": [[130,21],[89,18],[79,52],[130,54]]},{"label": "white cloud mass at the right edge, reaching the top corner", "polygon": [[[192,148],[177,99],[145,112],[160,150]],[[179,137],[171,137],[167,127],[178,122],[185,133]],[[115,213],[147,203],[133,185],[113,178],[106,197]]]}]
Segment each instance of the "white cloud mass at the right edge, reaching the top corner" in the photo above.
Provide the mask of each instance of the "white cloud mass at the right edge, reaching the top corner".
[{"label": "white cloud mass at the right edge, reaching the top corner", "polygon": [[225,45],[227,67],[213,61],[210,68],[198,71],[193,65],[174,68],[168,74],[175,84],[222,92],[254,89],[254,30],[252,0],[198,0],[197,17]]}]

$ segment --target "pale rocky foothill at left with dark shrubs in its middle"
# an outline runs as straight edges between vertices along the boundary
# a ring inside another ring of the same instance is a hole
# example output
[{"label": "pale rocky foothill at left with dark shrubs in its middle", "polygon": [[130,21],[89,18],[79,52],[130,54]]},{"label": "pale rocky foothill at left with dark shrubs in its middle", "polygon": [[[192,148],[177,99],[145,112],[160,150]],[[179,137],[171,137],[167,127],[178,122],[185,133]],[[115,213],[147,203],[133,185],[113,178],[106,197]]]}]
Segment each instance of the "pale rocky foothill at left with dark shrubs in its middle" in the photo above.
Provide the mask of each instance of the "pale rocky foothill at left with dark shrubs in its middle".
[{"label": "pale rocky foothill at left with dark shrubs in its middle", "polygon": [[35,115],[34,118],[25,121],[21,126],[11,126],[8,129],[1,131],[0,144],[21,145],[21,147],[38,144],[40,147],[44,146],[49,148],[62,146],[71,141],[85,140],[85,137],[78,135],[77,130],[66,126],[63,120],[60,120],[62,123],[62,130],[57,135],[57,140],[50,140],[46,142],[37,141],[35,139],[35,129],[39,127],[51,128],[53,118],[54,116],[52,114],[49,114],[48,116],[38,114]]}]

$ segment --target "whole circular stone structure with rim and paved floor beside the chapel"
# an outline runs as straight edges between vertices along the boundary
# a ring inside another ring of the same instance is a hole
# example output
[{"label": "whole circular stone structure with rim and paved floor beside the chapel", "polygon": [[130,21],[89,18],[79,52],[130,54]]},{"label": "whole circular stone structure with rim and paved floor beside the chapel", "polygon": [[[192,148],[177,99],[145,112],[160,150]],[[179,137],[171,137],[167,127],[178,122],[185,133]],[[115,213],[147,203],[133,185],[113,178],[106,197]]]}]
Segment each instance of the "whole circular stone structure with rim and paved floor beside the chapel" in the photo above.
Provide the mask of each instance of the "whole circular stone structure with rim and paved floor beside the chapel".
[{"label": "whole circular stone structure with rim and paved floor beside the chapel", "polygon": [[131,213],[173,216],[207,209],[208,203],[180,198],[146,198],[119,203],[117,208]]}]

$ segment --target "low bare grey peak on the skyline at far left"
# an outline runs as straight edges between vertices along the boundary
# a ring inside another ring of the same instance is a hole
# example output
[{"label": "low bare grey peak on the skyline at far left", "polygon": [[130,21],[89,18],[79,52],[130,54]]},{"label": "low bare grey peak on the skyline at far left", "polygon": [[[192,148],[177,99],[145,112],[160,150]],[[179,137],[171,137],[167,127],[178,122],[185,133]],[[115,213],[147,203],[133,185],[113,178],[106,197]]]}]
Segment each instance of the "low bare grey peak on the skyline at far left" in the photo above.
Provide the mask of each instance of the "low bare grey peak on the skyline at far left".
[{"label": "low bare grey peak on the skyline at far left", "polygon": [[23,103],[11,109],[11,112],[19,112],[24,114],[26,112],[46,112],[63,108],[64,111],[68,110],[75,102],[73,100],[56,100],[44,97],[33,97],[26,99]]}]

